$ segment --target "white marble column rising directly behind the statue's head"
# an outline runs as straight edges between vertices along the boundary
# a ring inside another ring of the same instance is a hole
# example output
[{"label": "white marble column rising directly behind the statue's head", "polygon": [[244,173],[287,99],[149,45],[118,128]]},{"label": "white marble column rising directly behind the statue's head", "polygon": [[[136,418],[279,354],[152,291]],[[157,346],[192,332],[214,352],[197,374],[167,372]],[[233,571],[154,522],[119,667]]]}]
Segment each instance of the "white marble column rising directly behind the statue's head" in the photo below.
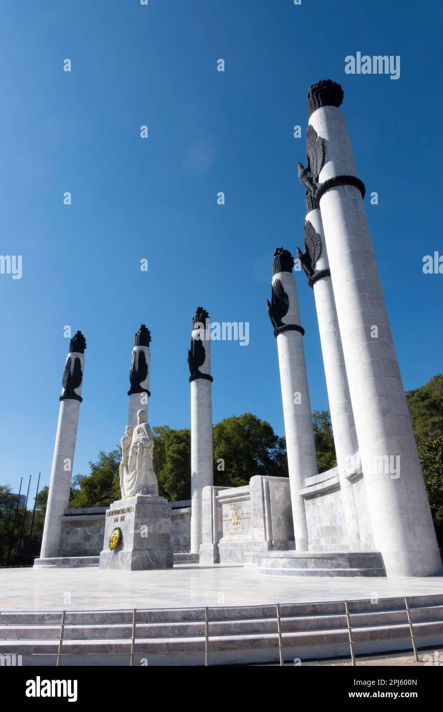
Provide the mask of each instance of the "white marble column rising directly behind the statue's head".
[{"label": "white marble column rising directly behind the statue's head", "polygon": [[132,349],[131,370],[129,371],[129,382],[131,388],[128,391],[129,395],[129,414],[128,425],[132,427],[137,425],[137,411],[146,410],[148,412],[149,405],[149,367],[151,365],[151,352],[149,344],[151,343],[151,333],[146,326],[142,324],[139,330],[135,333],[134,348]]}]

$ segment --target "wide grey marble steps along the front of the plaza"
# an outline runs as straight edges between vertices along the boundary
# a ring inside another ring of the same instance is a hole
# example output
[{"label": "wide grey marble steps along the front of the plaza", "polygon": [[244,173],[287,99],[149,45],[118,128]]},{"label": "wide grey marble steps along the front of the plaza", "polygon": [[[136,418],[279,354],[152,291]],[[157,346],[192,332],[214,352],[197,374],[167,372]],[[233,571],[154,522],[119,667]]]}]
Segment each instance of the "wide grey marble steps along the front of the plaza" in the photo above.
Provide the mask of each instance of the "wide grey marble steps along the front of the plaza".
[{"label": "wide grey marble steps along the front of the plaza", "polygon": [[[443,645],[443,595],[408,599],[417,646]],[[348,602],[356,654],[410,650],[405,600]],[[349,656],[344,602],[280,604],[285,661]],[[137,610],[134,665],[204,665],[206,609]],[[133,611],[66,612],[60,665],[129,665]],[[62,612],[1,612],[0,654],[55,665]],[[279,661],[277,607],[208,609],[209,664]]]}]

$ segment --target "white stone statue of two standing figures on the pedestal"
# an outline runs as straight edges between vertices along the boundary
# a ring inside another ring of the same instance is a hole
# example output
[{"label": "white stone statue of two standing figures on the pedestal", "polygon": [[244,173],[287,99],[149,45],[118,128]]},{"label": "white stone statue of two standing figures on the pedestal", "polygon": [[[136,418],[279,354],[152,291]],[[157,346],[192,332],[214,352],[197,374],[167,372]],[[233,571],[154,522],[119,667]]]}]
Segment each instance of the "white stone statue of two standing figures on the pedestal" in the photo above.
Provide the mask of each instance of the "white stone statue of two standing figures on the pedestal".
[{"label": "white stone statue of two standing figures on the pedestal", "polygon": [[159,485],[152,467],[154,438],[147,422],[146,410],[137,411],[137,425],[128,425],[122,437],[122,461],[120,462],[120,489],[122,499],[137,494],[157,495]]}]

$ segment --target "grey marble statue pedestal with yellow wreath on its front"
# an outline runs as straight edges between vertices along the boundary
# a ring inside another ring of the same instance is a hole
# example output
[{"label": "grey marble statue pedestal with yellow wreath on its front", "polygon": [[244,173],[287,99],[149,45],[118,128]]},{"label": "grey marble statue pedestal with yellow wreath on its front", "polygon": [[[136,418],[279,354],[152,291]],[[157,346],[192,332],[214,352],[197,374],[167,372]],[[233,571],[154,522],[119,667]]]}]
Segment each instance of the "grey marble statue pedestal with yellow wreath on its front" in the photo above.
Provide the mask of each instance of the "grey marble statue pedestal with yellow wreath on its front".
[{"label": "grey marble statue pedestal with yellow wreath on its front", "polygon": [[[122,535],[114,550],[114,529]],[[171,569],[171,508],[164,497],[136,495],[113,502],[106,513],[100,569],[139,571]]]}]

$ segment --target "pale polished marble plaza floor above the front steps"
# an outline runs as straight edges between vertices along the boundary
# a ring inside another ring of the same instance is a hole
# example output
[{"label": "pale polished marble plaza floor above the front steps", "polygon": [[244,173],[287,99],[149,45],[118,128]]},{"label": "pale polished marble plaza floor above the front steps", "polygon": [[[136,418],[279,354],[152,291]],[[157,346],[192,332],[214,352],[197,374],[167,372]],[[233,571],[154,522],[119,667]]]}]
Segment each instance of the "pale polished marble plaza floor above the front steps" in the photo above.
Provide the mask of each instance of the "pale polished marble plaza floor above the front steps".
[{"label": "pale polished marble plaza floor above the front steps", "polygon": [[51,611],[236,606],[443,594],[443,577],[260,576],[240,565],[164,571],[1,569],[0,610]]}]

